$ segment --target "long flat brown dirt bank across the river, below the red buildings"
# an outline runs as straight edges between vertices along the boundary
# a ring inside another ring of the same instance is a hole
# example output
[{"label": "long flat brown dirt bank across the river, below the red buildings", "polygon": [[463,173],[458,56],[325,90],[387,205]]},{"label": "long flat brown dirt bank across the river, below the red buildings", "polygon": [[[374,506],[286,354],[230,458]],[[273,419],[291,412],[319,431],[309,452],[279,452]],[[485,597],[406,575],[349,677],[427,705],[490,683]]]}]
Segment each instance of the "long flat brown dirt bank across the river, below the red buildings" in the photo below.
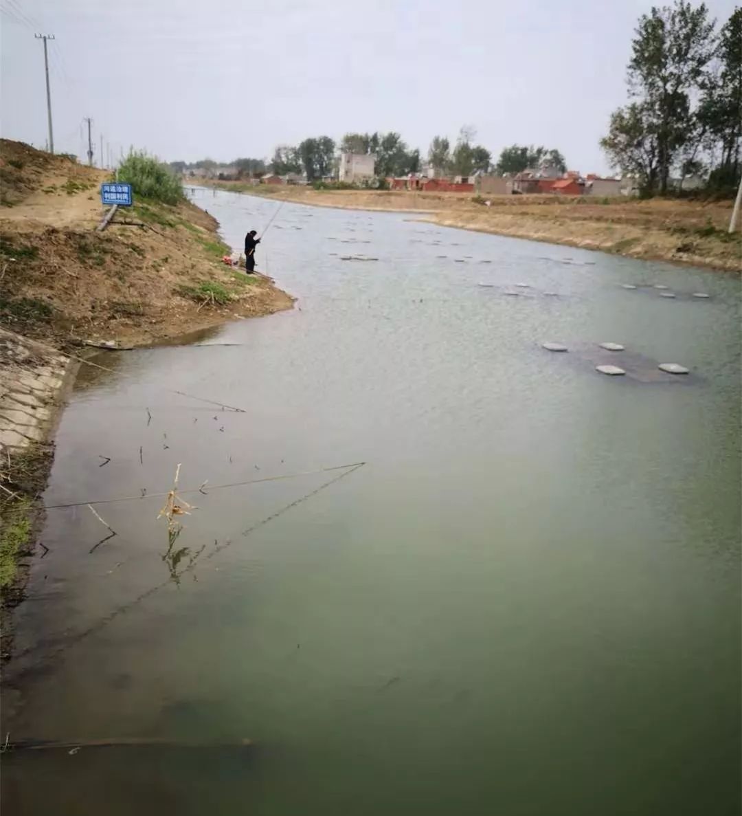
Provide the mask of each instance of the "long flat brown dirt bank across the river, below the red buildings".
[{"label": "long flat brown dirt bank across the river, below the red buildings", "polygon": [[[492,196],[214,182],[236,192],[351,210],[422,213],[422,220],[634,258],[742,271],[742,233],[727,232],[732,202],[689,199]],[[489,201],[489,205],[485,202]]]}]

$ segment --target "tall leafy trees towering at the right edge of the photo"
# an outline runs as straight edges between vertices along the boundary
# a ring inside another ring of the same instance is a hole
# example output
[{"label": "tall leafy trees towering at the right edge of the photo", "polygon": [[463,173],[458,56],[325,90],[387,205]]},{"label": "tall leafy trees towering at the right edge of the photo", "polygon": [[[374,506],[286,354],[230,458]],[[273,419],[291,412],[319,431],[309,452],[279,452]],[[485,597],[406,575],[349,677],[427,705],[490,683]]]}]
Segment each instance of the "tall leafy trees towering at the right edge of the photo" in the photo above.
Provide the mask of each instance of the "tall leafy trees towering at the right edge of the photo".
[{"label": "tall leafy trees towering at the right edge of the photo", "polygon": [[667,193],[671,173],[707,176],[730,193],[740,180],[742,9],[720,29],[704,3],[652,7],[638,20],[626,82],[629,103],[600,140],[613,166],[648,195]]}]

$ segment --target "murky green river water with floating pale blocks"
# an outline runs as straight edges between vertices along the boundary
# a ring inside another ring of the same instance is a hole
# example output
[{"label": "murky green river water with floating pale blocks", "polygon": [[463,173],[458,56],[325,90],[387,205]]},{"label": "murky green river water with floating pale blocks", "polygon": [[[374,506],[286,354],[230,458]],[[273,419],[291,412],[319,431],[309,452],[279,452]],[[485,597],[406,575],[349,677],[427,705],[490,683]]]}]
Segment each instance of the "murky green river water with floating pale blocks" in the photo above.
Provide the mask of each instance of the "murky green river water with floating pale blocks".
[{"label": "murky green river water with floating pale blocks", "polygon": [[739,812],[739,279],[415,218],[285,204],[297,308],[83,366],[3,731],[139,744],[7,813]]}]

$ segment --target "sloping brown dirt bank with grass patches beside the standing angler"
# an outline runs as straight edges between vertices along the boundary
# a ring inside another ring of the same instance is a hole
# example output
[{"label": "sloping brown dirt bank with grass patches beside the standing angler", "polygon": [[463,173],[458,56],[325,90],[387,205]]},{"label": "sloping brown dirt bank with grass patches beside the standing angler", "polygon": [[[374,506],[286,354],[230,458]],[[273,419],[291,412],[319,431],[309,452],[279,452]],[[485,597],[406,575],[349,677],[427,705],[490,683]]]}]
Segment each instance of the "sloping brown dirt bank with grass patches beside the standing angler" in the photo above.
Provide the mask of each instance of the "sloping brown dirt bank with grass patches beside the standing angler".
[{"label": "sloping brown dirt bank with grass patches beside the standing angler", "polygon": [[291,308],[270,278],[223,264],[218,224],[189,202],[136,202],[95,232],[106,174],[0,140],[0,322],[56,345],[137,344]]}]

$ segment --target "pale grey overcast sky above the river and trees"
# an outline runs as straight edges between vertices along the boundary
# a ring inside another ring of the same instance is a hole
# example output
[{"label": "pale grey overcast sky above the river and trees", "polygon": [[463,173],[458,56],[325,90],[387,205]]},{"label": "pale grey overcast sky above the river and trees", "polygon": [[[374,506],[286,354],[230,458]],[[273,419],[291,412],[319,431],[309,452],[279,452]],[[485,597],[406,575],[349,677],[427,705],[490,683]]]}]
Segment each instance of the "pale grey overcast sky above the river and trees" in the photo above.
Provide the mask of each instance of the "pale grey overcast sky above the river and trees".
[{"label": "pale grey overcast sky above the river and trees", "polygon": [[[725,21],[734,0],[707,2]],[[400,131],[427,152],[464,124],[492,151],[560,149],[606,171],[646,0],[0,0],[2,135],[43,146],[50,43],[55,149],[267,157],[276,144]]]}]

